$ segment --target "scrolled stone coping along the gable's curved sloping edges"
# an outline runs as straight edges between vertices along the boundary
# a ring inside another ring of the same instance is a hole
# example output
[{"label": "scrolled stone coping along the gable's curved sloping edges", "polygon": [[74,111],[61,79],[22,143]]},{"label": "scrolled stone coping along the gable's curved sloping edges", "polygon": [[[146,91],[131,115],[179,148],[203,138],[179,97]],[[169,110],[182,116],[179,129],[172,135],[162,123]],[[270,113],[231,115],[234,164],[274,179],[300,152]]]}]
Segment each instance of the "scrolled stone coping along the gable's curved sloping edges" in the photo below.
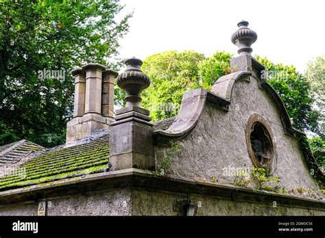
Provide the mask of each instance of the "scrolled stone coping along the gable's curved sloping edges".
[{"label": "scrolled stone coping along the gable's curved sloping edges", "polygon": [[[208,90],[204,90],[203,88],[198,88],[197,90],[193,90],[191,92],[187,92],[183,95],[182,105],[180,107],[180,111],[176,120],[171,124],[171,126],[163,131],[156,130],[154,131],[154,135],[163,135],[166,137],[179,137],[185,135],[191,129],[195,127],[197,124],[197,120],[200,118],[202,111],[204,109],[204,105],[206,100],[214,103],[218,107],[223,109],[228,109],[228,105],[230,105],[232,88],[234,87],[234,83],[241,79],[248,78],[247,76],[251,76],[252,72],[248,70],[239,70],[237,72],[232,72],[229,75],[224,75],[220,77],[211,92]],[[246,76],[246,77],[245,77]],[[246,79],[250,81],[250,79]],[[295,137],[300,137],[304,135],[301,131],[293,129],[291,122],[289,120],[289,116],[287,114],[287,110],[285,109],[285,105],[281,101],[280,96],[276,93],[274,88],[272,88],[269,83],[258,79],[261,85],[261,88],[269,94],[272,100],[278,105],[278,109],[280,111],[280,117],[282,120],[282,124],[285,127],[285,131],[293,135]]]}]

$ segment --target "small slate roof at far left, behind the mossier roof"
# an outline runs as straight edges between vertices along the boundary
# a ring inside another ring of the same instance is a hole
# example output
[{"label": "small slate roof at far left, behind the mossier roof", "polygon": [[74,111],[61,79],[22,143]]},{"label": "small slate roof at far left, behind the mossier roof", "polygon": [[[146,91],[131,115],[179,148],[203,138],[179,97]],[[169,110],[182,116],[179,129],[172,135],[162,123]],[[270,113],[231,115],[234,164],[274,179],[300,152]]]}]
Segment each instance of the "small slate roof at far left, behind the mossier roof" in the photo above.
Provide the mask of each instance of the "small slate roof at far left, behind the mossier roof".
[{"label": "small slate roof at far left, behind the mossier roof", "polygon": [[20,140],[19,142],[0,146],[0,167],[8,163],[16,163],[22,157],[26,157],[32,152],[44,149],[43,146],[27,140]]}]

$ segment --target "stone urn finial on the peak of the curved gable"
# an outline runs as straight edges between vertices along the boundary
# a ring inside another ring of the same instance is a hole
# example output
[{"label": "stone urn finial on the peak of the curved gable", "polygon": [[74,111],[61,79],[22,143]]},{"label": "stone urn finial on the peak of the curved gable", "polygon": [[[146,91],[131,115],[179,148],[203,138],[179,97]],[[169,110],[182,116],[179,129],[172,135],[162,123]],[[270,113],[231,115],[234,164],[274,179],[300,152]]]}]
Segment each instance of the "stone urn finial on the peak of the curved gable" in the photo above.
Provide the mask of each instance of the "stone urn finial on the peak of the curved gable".
[{"label": "stone urn finial on the peak of the curved gable", "polygon": [[231,42],[237,45],[239,55],[250,55],[253,51],[252,44],[257,40],[257,34],[248,28],[248,21],[240,21],[237,29],[231,36]]}]

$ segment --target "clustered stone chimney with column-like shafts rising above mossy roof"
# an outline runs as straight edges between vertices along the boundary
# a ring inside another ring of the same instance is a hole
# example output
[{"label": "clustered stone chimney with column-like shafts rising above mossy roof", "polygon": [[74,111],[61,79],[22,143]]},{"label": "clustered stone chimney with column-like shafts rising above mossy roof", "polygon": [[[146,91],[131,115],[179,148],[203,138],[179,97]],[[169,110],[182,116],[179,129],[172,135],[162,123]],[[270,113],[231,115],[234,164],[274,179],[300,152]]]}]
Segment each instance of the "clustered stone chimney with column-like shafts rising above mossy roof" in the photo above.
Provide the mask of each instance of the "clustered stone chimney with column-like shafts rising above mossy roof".
[{"label": "clustered stone chimney with column-like shafts rising above mossy roof", "polygon": [[71,73],[75,77],[75,102],[73,119],[67,124],[67,143],[108,129],[114,120],[114,79],[118,75],[101,64],[86,64]]}]

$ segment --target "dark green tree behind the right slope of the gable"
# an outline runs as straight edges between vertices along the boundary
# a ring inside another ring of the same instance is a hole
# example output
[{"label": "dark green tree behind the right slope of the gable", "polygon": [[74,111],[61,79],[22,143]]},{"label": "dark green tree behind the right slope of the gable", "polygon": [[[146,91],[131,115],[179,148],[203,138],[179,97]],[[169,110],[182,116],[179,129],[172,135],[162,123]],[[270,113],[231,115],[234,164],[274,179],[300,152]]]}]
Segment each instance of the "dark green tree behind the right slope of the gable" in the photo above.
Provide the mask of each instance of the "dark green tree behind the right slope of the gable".
[{"label": "dark green tree behind the right slope of the gable", "polygon": [[256,59],[265,65],[267,82],[273,86],[285,103],[293,127],[302,131],[313,131],[317,128],[320,115],[312,109],[311,87],[304,76],[293,66],[273,64],[266,57],[257,56]]}]

